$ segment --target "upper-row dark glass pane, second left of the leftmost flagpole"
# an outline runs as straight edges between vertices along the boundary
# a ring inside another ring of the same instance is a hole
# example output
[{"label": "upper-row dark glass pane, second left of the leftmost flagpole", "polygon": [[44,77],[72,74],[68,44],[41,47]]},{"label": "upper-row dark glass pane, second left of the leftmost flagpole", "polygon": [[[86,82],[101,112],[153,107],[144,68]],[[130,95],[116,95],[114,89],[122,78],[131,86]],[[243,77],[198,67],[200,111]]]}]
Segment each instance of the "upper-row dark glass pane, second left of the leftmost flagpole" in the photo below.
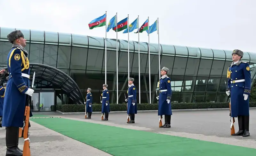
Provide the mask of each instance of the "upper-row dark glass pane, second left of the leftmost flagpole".
[{"label": "upper-row dark glass pane, second left of the leftmost flagpole", "polygon": [[70,68],[86,69],[87,48],[72,47]]}]

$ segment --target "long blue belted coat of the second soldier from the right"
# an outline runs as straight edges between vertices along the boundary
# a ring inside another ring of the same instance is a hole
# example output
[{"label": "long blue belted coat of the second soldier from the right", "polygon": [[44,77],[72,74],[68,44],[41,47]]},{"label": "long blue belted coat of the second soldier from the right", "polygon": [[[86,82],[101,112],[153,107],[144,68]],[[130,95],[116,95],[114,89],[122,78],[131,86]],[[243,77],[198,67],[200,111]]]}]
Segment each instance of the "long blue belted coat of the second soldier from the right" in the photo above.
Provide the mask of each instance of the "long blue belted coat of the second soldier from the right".
[{"label": "long blue belted coat of the second soldier from the right", "polygon": [[[172,115],[172,88],[171,79],[168,76],[160,79],[159,90],[158,115]],[[170,103],[167,103],[167,99],[170,99]]]}]

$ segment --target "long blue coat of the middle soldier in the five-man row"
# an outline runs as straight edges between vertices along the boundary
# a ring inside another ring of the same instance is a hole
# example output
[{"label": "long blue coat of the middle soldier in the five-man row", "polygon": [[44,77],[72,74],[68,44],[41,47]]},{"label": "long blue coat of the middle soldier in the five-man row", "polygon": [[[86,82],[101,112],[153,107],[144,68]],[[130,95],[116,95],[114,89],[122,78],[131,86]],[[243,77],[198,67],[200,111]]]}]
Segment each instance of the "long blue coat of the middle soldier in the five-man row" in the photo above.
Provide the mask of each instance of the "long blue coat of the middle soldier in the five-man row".
[{"label": "long blue coat of the middle soldier in the five-man row", "polygon": [[[134,85],[128,87],[127,94],[127,114],[137,114],[136,87]],[[135,103],[135,105],[133,106],[132,103]]]}]

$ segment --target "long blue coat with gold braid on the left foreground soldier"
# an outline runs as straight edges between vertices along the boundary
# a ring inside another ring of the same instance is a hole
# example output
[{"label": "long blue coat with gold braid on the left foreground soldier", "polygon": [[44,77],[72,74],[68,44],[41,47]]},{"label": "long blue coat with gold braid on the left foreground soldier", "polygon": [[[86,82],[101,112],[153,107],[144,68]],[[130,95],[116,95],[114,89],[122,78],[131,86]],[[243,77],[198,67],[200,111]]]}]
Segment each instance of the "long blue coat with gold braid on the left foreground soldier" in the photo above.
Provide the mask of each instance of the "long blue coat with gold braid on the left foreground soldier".
[{"label": "long blue coat with gold braid on the left foreground soldier", "polygon": [[4,96],[2,125],[22,127],[30,71],[28,58],[20,48],[12,48],[8,53],[7,67],[10,75]]}]

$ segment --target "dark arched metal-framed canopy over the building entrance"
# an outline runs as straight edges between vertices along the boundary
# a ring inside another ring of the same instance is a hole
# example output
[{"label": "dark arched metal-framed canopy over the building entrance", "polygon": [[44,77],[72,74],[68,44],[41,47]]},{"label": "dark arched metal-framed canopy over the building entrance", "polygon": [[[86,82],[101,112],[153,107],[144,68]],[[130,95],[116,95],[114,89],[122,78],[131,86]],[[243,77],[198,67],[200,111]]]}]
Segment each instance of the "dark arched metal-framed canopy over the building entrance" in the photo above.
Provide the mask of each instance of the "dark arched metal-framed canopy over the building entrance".
[{"label": "dark arched metal-framed canopy over the building entrance", "polygon": [[[33,77],[34,72],[36,72],[36,81],[47,81],[58,86],[65,94],[74,101],[74,104],[83,104],[84,98],[83,94],[77,86],[76,82],[64,73],[60,69],[52,66],[39,63],[29,63],[30,65],[30,77]],[[7,67],[2,69],[8,70]],[[2,70],[0,69],[0,70]],[[30,79],[32,81],[32,79]]]}]

